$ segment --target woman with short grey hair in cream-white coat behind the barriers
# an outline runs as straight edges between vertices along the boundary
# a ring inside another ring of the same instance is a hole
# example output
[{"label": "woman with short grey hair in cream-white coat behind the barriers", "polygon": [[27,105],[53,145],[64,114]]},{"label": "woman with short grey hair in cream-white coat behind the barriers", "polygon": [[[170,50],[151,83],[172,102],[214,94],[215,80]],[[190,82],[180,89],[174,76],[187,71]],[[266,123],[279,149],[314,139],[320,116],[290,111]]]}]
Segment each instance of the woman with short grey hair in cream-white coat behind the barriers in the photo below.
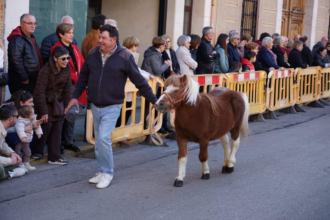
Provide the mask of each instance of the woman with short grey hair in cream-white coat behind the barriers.
[{"label": "woman with short grey hair in cream-white coat behind the barriers", "polygon": [[193,70],[197,68],[197,62],[191,58],[189,52],[190,41],[191,38],[186,35],[181,35],[177,41],[179,48],[176,51],[176,55],[180,65],[181,75],[194,75]]}]

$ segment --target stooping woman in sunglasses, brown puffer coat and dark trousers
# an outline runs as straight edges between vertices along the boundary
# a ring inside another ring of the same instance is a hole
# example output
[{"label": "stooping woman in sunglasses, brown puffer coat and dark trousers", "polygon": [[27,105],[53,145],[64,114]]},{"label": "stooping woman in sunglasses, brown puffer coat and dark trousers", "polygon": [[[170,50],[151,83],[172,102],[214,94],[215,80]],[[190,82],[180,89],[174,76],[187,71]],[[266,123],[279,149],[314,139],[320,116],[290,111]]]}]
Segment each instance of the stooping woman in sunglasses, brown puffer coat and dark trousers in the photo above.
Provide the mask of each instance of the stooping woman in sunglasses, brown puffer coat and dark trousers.
[{"label": "stooping woman in sunglasses, brown puffer coat and dark trousers", "polygon": [[[34,88],[34,108],[38,119],[41,117],[44,123],[41,124],[44,135],[36,140],[33,153],[44,155],[44,148],[48,144],[48,163],[65,165],[68,163],[60,156],[61,142],[61,116],[54,115],[54,97],[57,98],[59,106],[64,108],[72,98],[72,83],[70,78],[69,51],[64,47],[55,47],[52,56],[40,70],[37,85]],[[55,100],[56,101],[56,100]]]}]

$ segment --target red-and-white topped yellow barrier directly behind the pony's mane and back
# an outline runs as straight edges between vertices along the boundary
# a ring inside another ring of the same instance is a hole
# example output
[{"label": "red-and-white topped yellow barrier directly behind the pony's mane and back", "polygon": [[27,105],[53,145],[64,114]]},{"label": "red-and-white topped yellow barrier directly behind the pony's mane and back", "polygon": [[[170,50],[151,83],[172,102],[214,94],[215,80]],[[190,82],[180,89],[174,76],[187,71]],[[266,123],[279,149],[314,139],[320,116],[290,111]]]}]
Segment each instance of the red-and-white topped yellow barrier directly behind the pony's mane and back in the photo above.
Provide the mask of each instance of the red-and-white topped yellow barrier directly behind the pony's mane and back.
[{"label": "red-and-white topped yellow barrier directly behind the pony's mane and back", "polygon": [[[226,83],[229,81],[229,77],[225,74],[203,74],[203,75],[193,75],[189,76],[194,81],[196,81],[199,86],[203,87],[203,92],[207,92],[207,86],[209,86],[209,91],[212,91],[215,87],[225,87]],[[171,127],[174,126],[175,111],[170,115]]]}]

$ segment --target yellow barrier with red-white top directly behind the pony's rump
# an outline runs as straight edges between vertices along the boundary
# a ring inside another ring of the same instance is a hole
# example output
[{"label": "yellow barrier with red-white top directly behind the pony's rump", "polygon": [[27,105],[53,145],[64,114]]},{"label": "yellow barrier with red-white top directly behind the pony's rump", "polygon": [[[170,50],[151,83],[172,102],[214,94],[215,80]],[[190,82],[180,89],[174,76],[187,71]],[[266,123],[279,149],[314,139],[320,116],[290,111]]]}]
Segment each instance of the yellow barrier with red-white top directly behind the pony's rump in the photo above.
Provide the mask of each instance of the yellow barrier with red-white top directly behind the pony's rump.
[{"label": "yellow barrier with red-white top directly behind the pony's rump", "polygon": [[244,92],[250,103],[250,115],[262,113],[266,110],[265,89],[267,73],[265,71],[227,73],[229,83],[227,88]]}]

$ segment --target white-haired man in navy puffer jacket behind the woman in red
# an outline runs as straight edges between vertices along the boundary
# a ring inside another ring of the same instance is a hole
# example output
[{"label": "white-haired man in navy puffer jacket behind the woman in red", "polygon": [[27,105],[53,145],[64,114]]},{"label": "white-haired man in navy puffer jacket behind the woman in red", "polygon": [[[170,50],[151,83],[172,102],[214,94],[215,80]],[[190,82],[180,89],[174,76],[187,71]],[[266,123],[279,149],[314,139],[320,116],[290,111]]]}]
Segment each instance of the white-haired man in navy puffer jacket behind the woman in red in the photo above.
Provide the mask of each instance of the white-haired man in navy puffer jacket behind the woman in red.
[{"label": "white-haired man in navy puffer jacket behind the woman in red", "polygon": [[[71,24],[72,27],[75,27],[75,22],[73,21],[72,17],[70,17],[69,15],[63,16],[61,18],[60,23]],[[40,50],[41,50],[42,61],[44,64],[48,62],[48,58],[50,56],[50,48],[54,46],[58,40],[59,39],[56,33],[52,33],[42,40]],[[72,44],[77,45],[77,41],[75,38],[73,38]]]}]

